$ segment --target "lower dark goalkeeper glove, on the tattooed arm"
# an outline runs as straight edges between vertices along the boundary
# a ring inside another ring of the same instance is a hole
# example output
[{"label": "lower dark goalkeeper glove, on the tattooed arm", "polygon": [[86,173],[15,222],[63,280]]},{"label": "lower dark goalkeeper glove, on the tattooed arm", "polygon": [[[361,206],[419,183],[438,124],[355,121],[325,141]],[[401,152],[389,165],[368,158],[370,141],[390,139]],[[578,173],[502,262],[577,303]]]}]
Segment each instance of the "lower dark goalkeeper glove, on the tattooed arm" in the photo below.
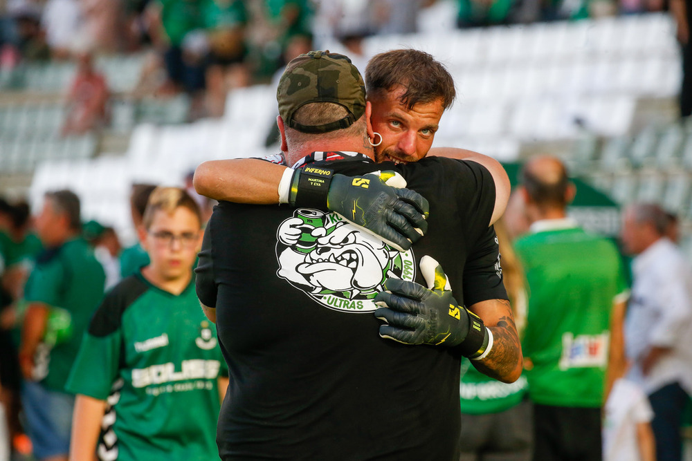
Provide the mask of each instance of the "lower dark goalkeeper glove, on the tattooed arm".
[{"label": "lower dark goalkeeper glove, on the tattooed arm", "polygon": [[489,331],[480,317],[458,305],[452,296],[446,274],[430,256],[421,258],[421,274],[428,283],[387,279],[386,291],[374,298],[375,317],[385,321],[380,336],[404,344],[459,346],[464,357],[475,358],[485,352]]}]

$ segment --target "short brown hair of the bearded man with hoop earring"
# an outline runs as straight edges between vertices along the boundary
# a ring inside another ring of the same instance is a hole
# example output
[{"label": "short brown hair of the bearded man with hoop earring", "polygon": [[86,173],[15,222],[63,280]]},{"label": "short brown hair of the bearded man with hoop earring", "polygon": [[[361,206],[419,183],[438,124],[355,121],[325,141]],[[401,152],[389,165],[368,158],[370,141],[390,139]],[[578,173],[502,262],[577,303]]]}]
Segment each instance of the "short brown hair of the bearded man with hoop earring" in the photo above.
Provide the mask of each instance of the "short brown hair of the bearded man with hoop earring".
[{"label": "short brown hair of the bearded man with hoop earring", "polygon": [[378,95],[401,85],[406,92],[401,104],[413,109],[416,104],[441,100],[444,109],[454,102],[454,79],[432,55],[419,50],[391,50],[375,55],[365,67],[367,95]]}]

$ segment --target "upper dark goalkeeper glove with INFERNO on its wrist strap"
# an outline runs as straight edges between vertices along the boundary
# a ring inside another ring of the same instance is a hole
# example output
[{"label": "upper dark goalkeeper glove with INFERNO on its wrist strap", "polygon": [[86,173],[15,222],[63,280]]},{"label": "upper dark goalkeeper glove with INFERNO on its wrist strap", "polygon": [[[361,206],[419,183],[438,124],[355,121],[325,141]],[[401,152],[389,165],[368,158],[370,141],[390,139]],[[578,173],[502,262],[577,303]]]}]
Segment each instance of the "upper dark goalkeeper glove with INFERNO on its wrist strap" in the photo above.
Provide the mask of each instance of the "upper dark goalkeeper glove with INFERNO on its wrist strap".
[{"label": "upper dark goalkeeper glove with INFERNO on its wrist strap", "polygon": [[295,207],[334,211],[388,245],[406,251],[427,232],[430,207],[423,196],[404,187],[406,180],[394,171],[344,176],[307,166],[293,173],[288,201]]}]

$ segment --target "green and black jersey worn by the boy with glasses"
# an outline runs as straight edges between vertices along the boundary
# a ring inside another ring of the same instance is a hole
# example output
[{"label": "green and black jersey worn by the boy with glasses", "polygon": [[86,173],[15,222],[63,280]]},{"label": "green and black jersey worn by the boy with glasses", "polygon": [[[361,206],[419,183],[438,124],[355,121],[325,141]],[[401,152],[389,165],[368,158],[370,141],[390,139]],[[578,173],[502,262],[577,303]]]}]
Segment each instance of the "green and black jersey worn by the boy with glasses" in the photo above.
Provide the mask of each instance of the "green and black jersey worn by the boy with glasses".
[{"label": "green and black jersey worn by the boy with glasses", "polygon": [[94,314],[67,388],[107,400],[101,459],[218,459],[219,375],[228,375],[216,328],[194,283],[174,295],[138,273]]}]

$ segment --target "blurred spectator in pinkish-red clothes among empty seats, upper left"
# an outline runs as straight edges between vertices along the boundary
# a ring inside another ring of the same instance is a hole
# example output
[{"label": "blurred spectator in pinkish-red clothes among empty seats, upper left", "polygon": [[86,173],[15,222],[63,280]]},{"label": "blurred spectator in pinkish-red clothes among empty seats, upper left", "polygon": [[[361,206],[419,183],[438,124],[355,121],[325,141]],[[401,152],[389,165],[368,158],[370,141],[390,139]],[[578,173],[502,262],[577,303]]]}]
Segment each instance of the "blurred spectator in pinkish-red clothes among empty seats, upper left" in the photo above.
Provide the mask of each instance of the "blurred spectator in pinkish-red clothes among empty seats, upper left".
[{"label": "blurred spectator in pinkish-red clothes among empty seats, upper left", "polygon": [[82,135],[107,123],[109,98],[106,78],[96,70],[90,50],[77,52],[77,73],[67,96],[62,135]]}]

